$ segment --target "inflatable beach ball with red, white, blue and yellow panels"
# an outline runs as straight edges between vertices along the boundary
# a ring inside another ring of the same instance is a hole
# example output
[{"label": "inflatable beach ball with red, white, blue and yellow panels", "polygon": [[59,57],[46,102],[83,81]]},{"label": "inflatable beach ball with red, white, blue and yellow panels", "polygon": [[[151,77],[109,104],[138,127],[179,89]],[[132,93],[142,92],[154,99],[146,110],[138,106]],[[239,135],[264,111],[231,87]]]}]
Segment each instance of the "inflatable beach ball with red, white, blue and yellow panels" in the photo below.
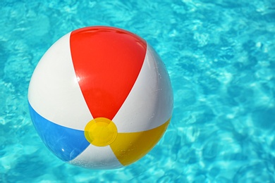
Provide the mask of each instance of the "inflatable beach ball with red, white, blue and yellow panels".
[{"label": "inflatable beach ball with red, white, blue and yellow panels", "polygon": [[145,156],[173,109],[164,63],[147,42],[115,27],[61,37],[39,61],[28,91],[33,125],[61,160],[121,168]]}]

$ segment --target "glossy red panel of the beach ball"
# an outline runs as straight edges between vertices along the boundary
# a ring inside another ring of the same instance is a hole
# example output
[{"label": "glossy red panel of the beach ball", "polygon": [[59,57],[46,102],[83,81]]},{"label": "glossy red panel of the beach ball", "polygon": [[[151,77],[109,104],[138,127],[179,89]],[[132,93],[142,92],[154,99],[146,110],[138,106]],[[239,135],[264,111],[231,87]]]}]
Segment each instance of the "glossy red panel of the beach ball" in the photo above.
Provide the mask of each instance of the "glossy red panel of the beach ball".
[{"label": "glossy red panel of the beach ball", "polygon": [[75,74],[92,116],[113,119],[140,73],[145,40],[117,28],[87,27],[71,33],[70,45]]}]

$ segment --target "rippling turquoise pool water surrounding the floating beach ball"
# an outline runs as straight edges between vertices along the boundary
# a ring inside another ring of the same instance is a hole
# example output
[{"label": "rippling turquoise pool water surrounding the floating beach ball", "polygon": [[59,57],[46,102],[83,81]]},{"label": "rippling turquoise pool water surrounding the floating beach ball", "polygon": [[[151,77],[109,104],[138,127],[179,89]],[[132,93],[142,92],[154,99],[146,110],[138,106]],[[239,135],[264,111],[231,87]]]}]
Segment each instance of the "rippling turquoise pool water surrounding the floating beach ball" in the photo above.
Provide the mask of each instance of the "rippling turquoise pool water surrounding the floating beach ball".
[{"label": "rippling turquoise pool water surrounding the floating beach ball", "polygon": [[[275,182],[274,0],[2,0],[0,12],[0,182]],[[173,86],[164,137],[118,170],[63,163],[27,108],[44,52],[90,25],[145,38]]]}]

